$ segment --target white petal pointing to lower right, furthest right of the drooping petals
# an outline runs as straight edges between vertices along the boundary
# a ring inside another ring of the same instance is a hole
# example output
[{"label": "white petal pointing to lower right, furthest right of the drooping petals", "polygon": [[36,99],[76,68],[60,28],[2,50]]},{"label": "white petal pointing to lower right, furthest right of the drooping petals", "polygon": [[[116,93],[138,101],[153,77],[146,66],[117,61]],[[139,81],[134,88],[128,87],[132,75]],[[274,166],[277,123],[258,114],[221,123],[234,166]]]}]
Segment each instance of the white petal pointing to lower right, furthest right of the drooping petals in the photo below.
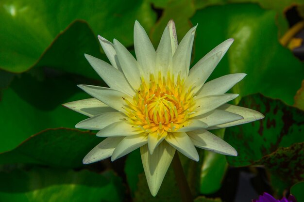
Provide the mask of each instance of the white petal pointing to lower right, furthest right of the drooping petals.
[{"label": "white petal pointing to lower right, furthest right of the drooping petals", "polygon": [[227,142],[207,130],[200,129],[187,132],[193,144],[199,148],[223,155],[237,155],[236,150]]}]

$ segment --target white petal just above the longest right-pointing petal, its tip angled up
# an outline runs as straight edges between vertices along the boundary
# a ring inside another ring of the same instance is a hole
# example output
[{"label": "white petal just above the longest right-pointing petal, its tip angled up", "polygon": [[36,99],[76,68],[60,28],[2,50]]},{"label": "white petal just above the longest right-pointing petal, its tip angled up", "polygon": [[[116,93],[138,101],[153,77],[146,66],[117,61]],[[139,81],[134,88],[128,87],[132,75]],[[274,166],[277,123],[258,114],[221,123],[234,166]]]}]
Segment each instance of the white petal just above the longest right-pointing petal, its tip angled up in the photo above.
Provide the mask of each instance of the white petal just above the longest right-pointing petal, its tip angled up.
[{"label": "white petal just above the longest right-pointing petal, its tip angled up", "polygon": [[190,115],[190,117],[195,117],[212,111],[220,107],[221,105],[229,102],[230,100],[235,99],[238,94],[220,94],[220,95],[208,95],[196,100],[197,109],[195,109],[195,113]]}]

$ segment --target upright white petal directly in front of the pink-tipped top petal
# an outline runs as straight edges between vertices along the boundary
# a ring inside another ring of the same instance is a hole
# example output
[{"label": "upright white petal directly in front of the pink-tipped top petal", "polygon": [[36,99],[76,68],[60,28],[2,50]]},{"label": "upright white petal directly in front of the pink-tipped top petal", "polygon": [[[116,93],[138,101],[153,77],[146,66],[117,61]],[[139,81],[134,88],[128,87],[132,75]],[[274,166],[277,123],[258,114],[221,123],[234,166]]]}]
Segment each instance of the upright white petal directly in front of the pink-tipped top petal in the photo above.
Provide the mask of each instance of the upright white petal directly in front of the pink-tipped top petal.
[{"label": "upright white petal directly in front of the pink-tipped top petal", "polygon": [[156,50],[155,75],[158,76],[160,71],[163,76],[167,76],[167,71],[172,73],[172,50],[171,39],[168,26],[165,28],[162,38]]}]

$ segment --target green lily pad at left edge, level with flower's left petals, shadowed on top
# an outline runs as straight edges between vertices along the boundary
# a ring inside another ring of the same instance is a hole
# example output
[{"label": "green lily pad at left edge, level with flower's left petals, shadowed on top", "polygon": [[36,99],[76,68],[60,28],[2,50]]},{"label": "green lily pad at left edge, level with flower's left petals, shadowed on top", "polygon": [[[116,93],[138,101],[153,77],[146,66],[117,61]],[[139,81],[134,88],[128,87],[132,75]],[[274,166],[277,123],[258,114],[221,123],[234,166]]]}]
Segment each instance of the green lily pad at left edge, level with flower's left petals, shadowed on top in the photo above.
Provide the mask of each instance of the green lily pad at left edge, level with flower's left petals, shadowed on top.
[{"label": "green lily pad at left edge, level with flower's left petals, shadowed on top", "polygon": [[86,117],[61,105],[88,97],[69,76],[54,75],[42,81],[29,74],[15,77],[0,100],[0,152],[47,128],[74,128]]}]

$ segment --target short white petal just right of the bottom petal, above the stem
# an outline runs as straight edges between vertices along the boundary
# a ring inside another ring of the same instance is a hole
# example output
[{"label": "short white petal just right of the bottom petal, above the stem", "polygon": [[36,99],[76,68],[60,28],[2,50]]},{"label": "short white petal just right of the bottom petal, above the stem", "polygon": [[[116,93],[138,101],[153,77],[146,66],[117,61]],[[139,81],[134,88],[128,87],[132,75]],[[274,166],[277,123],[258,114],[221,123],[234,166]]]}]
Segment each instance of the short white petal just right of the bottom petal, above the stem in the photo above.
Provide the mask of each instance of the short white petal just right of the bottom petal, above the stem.
[{"label": "short white petal just right of the bottom petal, above the stem", "polygon": [[183,155],[195,161],[199,161],[200,157],[197,153],[193,142],[185,132],[168,133],[165,140]]}]

